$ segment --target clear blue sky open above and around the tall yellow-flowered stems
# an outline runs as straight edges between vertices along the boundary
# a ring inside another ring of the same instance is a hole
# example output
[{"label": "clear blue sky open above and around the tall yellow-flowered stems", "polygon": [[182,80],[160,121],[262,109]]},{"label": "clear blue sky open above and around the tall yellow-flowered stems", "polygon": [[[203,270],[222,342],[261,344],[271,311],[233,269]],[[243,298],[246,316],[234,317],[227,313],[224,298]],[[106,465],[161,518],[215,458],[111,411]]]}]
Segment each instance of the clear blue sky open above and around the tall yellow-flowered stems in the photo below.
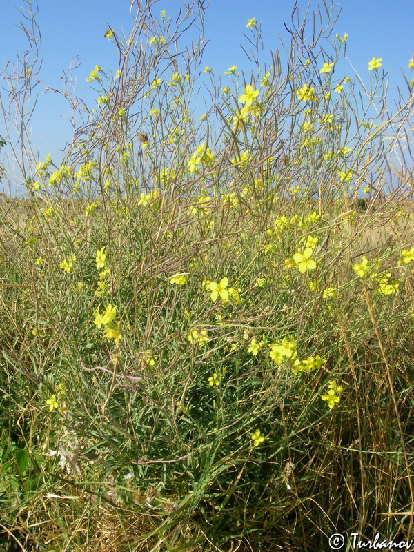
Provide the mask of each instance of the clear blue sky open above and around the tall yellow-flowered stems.
[{"label": "clear blue sky open above and around the tall yellow-flowered stems", "polygon": [[[179,0],[159,0],[152,8],[159,14],[162,9],[168,13],[176,13]],[[290,12],[294,0],[210,0],[205,17],[206,46],[204,65],[215,70],[216,75],[223,75],[228,67],[235,65],[238,70],[250,68],[241,44],[248,46],[242,33],[248,32],[248,19],[256,17],[262,24],[264,41],[264,58],[268,52],[280,48],[278,34],[287,39],[288,34],[284,22],[290,23]],[[328,4],[331,1],[328,0]],[[22,21],[17,8],[24,8],[23,0],[2,0],[0,6],[0,70],[3,71],[9,59],[15,59],[16,52],[22,54],[27,50],[26,37],[17,28]],[[35,6],[35,4],[34,4]],[[115,72],[117,68],[116,48],[103,37],[108,24],[119,32],[127,34],[132,26],[130,4],[128,0],[39,0],[39,15],[37,21],[41,29],[41,50],[43,58],[41,81],[48,86],[61,88],[59,75],[68,71],[70,62],[75,57],[82,58],[81,65],[75,70],[77,92],[92,104],[96,92],[90,90],[86,77],[90,70],[99,64]],[[304,12],[308,1],[298,0],[299,10]],[[312,1],[312,8],[320,6],[324,12],[323,2]],[[341,9],[342,4],[334,2],[334,12]],[[364,81],[370,75],[367,63],[373,57],[382,57],[382,69],[390,72],[390,92],[396,97],[396,86],[402,84],[401,70],[409,75],[408,60],[413,55],[413,21],[414,2],[412,0],[346,0],[341,14],[334,27],[341,36],[348,33],[347,56]],[[287,46],[289,42],[286,40]],[[351,66],[344,60],[345,74],[353,73]],[[412,74],[410,78],[412,78]],[[6,86],[4,80],[2,86]],[[224,86],[224,85],[223,85]],[[37,110],[31,121],[33,144],[39,150],[41,159],[47,153],[52,159],[60,162],[59,149],[72,136],[72,127],[68,122],[70,108],[63,97],[52,92],[43,94],[44,88],[37,88],[39,100]],[[43,95],[42,95],[43,94]],[[5,92],[1,90],[3,99]],[[0,135],[4,136],[0,120]],[[3,148],[0,159],[4,160],[7,148]],[[0,184],[0,191],[3,190]],[[6,190],[4,190],[6,191]]]}]

